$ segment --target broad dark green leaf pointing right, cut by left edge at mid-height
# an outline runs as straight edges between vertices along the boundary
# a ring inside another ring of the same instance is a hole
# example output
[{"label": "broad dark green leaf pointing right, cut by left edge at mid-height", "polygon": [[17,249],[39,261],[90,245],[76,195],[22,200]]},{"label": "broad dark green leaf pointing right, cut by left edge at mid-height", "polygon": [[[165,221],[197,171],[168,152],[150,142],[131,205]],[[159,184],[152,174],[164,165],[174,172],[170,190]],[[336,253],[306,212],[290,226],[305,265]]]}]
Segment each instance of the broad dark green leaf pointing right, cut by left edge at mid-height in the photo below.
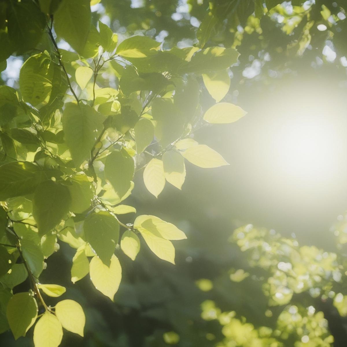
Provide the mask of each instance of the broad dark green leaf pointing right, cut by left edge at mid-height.
[{"label": "broad dark green leaf pointing right, cut by left edge at mid-height", "polygon": [[40,168],[30,162],[10,162],[0,166],[0,201],[32,193],[41,181]]}]

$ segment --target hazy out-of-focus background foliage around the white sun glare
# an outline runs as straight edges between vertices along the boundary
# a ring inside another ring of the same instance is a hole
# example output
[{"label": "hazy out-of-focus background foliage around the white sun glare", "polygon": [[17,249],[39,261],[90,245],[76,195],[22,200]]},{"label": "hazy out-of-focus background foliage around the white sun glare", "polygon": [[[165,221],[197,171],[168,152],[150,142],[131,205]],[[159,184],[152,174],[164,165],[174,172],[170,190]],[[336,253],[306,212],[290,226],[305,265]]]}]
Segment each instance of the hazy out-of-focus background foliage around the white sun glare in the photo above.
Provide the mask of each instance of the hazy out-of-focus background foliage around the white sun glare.
[{"label": "hazy out-of-focus background foliage around the white sun glare", "polygon": [[[94,24],[109,25],[119,41],[141,34],[167,49],[237,48],[241,56],[229,72],[225,100],[248,115],[232,127],[206,127],[196,135],[213,142],[229,167],[191,166],[183,191],[169,187],[158,200],[145,191],[142,175],[135,176],[127,202],[188,236],[175,244],[176,265],[146,247],[135,262],[119,252],[123,279],[110,304],[87,278],[72,285],[71,248],[61,244],[63,252],[49,258],[52,271],[42,274],[43,281],[59,278],[87,317],[85,337],[67,333],[62,346],[346,346],[346,217],[330,227],[347,206],[346,140],[341,136],[342,149],[336,149],[342,159],[333,184],[281,177],[263,145],[285,117],[305,107],[323,108],[345,132],[345,0],[91,3]],[[40,48],[47,44],[43,37]],[[7,65],[4,60],[1,83],[15,85],[22,63],[20,56]],[[112,86],[112,74],[105,74],[100,83]],[[201,99],[206,107],[214,103],[207,91]],[[316,109],[313,114],[320,121]],[[32,336],[14,342],[9,332],[0,342],[32,346]]]}]

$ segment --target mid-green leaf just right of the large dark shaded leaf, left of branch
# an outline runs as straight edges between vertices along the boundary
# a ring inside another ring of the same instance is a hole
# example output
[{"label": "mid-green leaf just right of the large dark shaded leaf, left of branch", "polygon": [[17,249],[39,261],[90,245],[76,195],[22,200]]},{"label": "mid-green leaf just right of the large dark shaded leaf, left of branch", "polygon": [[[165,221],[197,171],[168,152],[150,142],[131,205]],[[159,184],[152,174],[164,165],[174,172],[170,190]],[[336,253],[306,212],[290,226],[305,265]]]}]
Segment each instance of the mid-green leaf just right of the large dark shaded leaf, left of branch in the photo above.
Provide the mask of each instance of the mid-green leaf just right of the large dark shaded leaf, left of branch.
[{"label": "mid-green leaf just right of the large dark shaded leaf, left of branch", "polygon": [[86,175],[75,175],[70,179],[71,185],[67,186],[71,196],[71,211],[83,213],[92,204],[94,187]]}]

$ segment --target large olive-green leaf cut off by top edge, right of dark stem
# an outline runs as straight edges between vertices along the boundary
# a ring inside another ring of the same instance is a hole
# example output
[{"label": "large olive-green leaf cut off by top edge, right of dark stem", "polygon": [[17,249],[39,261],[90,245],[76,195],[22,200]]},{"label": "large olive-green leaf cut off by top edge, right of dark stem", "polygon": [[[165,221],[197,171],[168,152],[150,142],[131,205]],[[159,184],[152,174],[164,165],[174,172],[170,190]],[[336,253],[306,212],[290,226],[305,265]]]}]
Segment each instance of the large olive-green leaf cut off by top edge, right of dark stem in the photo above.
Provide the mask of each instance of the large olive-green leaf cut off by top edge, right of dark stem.
[{"label": "large olive-green leaf cut off by top edge, right of dark stem", "polygon": [[62,0],[54,14],[54,29],[79,54],[82,54],[91,25],[89,0]]}]

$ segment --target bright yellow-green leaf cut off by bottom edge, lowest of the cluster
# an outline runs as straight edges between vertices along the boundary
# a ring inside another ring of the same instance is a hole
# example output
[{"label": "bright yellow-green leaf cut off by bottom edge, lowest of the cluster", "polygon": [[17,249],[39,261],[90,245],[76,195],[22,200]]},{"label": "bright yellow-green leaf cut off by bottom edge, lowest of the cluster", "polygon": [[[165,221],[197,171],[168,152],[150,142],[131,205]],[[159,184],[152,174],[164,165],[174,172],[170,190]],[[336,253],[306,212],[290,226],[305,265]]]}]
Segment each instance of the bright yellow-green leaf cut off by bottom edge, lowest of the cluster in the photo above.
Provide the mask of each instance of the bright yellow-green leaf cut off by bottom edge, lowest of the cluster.
[{"label": "bright yellow-green leaf cut off by bottom edge, lowest of the cluster", "polygon": [[58,318],[46,311],[34,328],[35,347],[58,347],[63,337],[63,329]]}]

